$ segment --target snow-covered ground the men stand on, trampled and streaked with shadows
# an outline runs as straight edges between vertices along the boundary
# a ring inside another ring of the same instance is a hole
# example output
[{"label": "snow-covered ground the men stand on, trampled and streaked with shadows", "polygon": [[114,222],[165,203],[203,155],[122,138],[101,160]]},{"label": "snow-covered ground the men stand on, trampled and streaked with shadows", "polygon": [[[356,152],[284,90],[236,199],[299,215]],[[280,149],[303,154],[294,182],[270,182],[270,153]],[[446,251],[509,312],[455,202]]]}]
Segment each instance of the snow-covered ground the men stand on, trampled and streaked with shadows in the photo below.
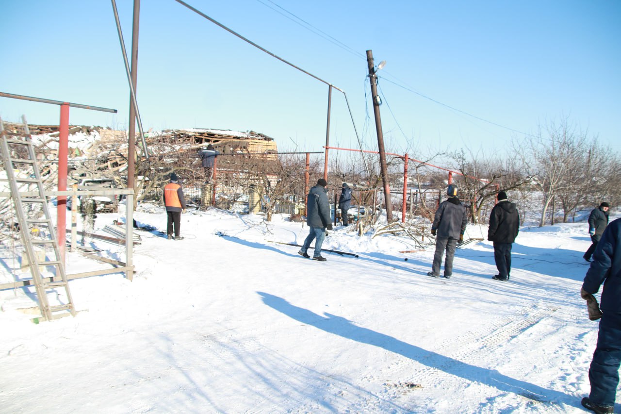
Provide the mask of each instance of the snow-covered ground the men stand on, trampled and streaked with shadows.
[{"label": "snow-covered ground the men stand on, trampled and streaked with shadows", "polygon": [[[161,209],[135,218],[165,229]],[[140,232],[132,282],[72,280],[75,318],[32,323],[19,308],[34,290],[0,291],[0,412],[583,412],[597,337],[579,295],[586,227],[522,228],[497,282],[487,241],[458,249],[445,280],[427,277],[432,246],[399,253],[407,239],[335,228],[324,248],[359,257],[322,263],[275,243],[301,244],[302,223],[186,213],[183,241]],[[0,254],[1,283],[29,278],[11,246]],[[68,254],[68,274],[105,266]]]}]

